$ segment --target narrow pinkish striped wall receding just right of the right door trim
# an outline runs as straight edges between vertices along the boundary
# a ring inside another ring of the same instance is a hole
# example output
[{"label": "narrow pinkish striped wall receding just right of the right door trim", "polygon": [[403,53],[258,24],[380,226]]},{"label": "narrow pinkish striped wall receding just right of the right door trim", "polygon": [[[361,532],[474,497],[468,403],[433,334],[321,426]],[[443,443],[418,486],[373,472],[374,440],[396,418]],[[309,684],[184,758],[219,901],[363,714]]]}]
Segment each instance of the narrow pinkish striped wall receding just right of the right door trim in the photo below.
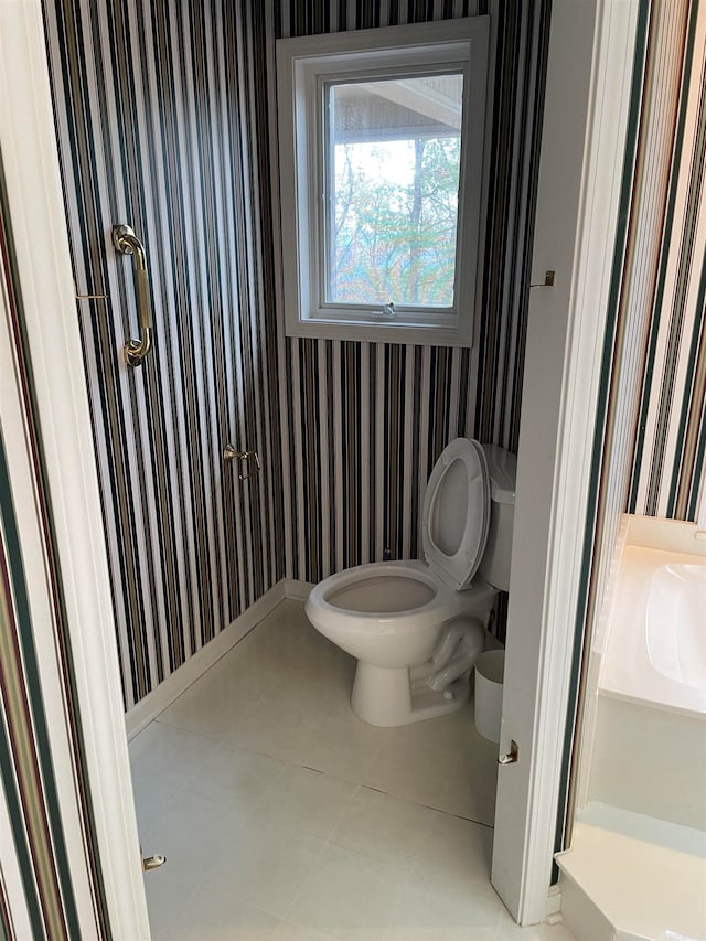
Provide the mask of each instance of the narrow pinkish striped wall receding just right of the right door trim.
[{"label": "narrow pinkish striped wall receding just right of the right door trim", "polygon": [[[688,0],[661,0],[643,18],[643,45],[635,63],[634,133],[623,168],[622,214],[613,263],[612,308],[602,363],[599,418],[600,477],[596,477],[593,605],[599,605],[620,518],[630,503],[631,477],[640,472],[640,402],[651,376],[649,338],[672,311],[656,303],[660,271],[670,250],[668,191],[676,119],[688,41]],[[653,402],[654,406],[655,403]],[[646,509],[646,507],[645,507]]]}]

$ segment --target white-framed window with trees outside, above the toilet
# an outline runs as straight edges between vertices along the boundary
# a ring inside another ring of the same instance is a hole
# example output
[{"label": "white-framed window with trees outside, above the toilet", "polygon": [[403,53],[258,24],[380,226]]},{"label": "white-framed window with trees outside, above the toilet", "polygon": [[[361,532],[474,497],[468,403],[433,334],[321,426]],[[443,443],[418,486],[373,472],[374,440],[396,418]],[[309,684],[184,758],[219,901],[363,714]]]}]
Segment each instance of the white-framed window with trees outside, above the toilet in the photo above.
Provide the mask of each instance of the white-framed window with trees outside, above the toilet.
[{"label": "white-framed window with trees outside, above the toilet", "polygon": [[288,335],[470,346],[489,18],[279,40]]}]

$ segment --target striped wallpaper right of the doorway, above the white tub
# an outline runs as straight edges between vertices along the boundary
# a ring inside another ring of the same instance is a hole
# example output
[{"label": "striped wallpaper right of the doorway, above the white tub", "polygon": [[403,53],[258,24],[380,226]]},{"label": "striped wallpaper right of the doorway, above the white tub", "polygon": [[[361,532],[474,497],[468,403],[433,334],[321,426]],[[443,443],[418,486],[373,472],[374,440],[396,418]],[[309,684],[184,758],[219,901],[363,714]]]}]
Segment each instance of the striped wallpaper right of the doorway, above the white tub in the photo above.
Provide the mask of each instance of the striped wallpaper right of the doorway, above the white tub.
[{"label": "striped wallpaper right of the doorway, above the white tub", "polygon": [[[704,488],[705,51],[703,0],[643,0],[576,625],[579,705],[622,514],[695,521]],[[569,716],[567,760],[580,719]],[[567,766],[565,791],[570,779]]]}]

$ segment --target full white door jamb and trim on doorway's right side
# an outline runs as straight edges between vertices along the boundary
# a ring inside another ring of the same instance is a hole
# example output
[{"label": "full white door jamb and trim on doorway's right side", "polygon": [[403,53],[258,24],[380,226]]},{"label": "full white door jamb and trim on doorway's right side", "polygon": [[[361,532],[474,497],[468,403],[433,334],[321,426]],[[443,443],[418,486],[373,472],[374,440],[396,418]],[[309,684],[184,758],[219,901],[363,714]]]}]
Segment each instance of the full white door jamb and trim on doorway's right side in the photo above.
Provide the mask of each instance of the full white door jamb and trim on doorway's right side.
[{"label": "full white door jamb and trim on doorway's right side", "polygon": [[637,0],[554,0],[520,428],[492,883],[544,920]]}]

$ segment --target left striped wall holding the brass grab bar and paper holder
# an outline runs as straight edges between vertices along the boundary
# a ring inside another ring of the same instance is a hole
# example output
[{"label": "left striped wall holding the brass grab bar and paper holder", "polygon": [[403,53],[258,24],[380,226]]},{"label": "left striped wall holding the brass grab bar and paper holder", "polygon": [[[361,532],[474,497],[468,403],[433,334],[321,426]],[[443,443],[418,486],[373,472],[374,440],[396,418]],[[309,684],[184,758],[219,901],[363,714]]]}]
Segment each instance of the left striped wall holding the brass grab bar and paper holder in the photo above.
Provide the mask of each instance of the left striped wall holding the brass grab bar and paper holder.
[{"label": "left striped wall holding the brass grab bar and paper holder", "polygon": [[[77,317],[128,708],[284,575],[260,6],[44,3],[77,290],[106,296]],[[154,350],[137,370],[122,222],[151,279]],[[239,482],[226,441],[256,449],[261,474]]]}]

